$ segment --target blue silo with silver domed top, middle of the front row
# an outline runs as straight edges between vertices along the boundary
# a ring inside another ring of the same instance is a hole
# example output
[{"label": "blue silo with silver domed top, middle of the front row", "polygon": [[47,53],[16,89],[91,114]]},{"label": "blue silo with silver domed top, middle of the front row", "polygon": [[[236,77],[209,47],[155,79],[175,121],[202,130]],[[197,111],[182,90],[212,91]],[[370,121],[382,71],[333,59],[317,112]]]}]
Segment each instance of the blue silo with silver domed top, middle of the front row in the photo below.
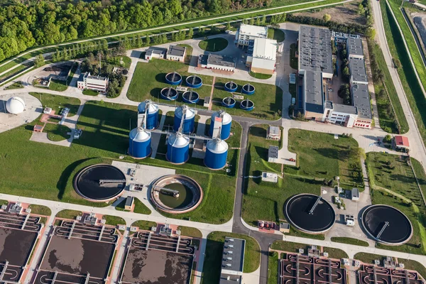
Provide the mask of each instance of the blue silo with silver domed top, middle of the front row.
[{"label": "blue silo with silver domed top, middle of the front row", "polygon": [[190,158],[190,138],[180,132],[170,134],[165,158],[173,164],[186,163]]}]

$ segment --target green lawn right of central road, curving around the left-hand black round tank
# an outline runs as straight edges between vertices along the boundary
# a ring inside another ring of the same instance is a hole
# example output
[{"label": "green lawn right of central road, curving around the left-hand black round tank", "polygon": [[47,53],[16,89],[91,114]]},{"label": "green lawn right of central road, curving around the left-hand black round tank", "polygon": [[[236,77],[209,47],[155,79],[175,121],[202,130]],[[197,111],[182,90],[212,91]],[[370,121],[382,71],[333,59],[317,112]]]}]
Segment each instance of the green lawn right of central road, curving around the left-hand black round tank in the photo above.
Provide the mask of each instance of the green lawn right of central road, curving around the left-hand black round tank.
[{"label": "green lawn right of central road, curving around the left-hand black round tank", "polygon": [[[281,165],[268,163],[268,147],[279,146],[277,141],[266,140],[266,125],[252,126],[249,135],[249,155],[246,160],[246,175],[259,176],[267,171],[280,175]],[[285,219],[285,201],[300,193],[320,194],[324,178],[331,180],[339,175],[341,184],[348,188],[355,181],[353,164],[359,162],[358,144],[352,138],[338,140],[327,133],[290,129],[289,146],[297,153],[298,168],[284,167],[283,179],[278,183],[261,182],[260,179],[246,179],[242,217],[256,226],[258,220],[278,222]],[[321,146],[321,148],[317,148]],[[348,148],[350,147],[350,148]],[[318,170],[327,165],[327,170]],[[290,235],[324,239],[324,235],[311,235],[290,229]]]}]

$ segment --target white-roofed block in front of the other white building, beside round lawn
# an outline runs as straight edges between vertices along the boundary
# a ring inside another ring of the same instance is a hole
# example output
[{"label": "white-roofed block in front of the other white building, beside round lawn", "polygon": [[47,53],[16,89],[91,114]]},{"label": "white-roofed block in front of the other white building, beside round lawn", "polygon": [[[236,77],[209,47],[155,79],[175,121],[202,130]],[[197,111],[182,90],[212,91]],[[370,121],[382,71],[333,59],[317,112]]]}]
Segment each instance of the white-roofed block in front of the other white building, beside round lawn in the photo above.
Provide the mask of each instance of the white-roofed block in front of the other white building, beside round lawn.
[{"label": "white-roofed block in front of the other white building, beside round lawn", "polygon": [[277,60],[277,41],[269,38],[249,40],[246,66],[251,72],[273,75]]}]

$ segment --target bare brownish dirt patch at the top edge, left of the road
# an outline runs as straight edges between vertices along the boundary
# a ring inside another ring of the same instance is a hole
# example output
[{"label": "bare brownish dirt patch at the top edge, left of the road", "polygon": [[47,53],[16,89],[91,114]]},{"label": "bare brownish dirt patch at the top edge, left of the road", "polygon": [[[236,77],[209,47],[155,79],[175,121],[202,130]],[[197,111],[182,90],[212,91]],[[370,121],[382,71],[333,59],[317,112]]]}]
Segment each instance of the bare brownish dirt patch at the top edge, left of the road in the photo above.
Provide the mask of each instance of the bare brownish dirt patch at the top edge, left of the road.
[{"label": "bare brownish dirt patch at the top edge, left of the road", "polygon": [[361,1],[345,3],[339,6],[334,6],[332,8],[322,9],[317,11],[317,9],[313,11],[307,11],[303,13],[295,13],[295,16],[305,16],[311,18],[322,18],[324,14],[328,13],[332,16],[332,20],[336,23],[344,23],[346,25],[350,24],[358,24],[365,25],[367,23],[367,19],[364,15],[358,14],[358,6],[361,4]]}]

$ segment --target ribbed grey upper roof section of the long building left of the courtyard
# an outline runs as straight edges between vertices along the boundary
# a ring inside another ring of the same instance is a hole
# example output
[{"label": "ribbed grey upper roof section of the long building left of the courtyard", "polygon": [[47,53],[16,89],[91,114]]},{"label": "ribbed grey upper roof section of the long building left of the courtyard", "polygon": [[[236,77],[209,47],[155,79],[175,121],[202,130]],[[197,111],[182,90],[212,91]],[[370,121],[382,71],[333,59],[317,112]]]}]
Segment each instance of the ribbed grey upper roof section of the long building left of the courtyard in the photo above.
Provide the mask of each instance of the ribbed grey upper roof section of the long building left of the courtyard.
[{"label": "ribbed grey upper roof section of the long building left of the courtyard", "polygon": [[299,70],[333,73],[331,36],[328,28],[300,26]]}]

